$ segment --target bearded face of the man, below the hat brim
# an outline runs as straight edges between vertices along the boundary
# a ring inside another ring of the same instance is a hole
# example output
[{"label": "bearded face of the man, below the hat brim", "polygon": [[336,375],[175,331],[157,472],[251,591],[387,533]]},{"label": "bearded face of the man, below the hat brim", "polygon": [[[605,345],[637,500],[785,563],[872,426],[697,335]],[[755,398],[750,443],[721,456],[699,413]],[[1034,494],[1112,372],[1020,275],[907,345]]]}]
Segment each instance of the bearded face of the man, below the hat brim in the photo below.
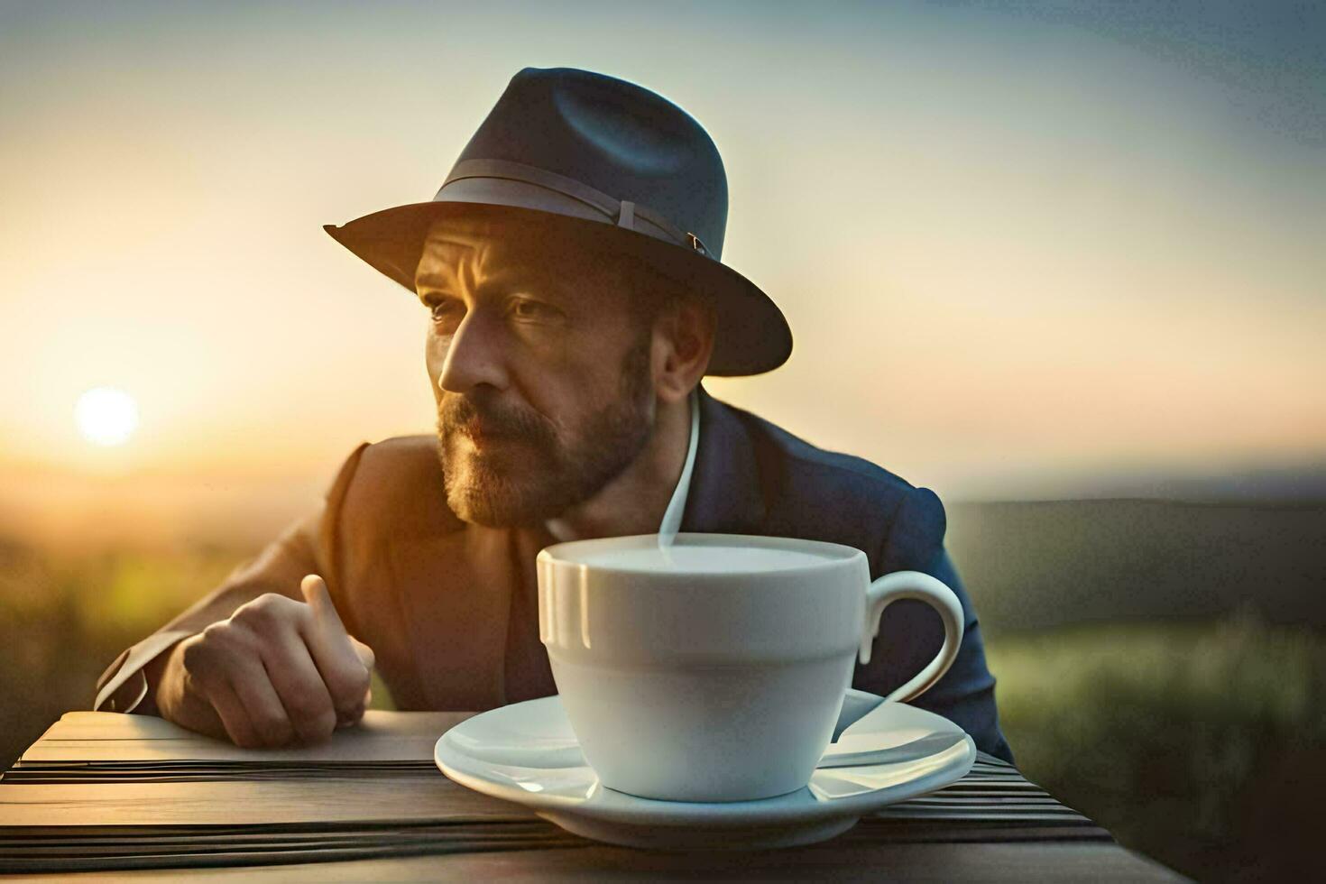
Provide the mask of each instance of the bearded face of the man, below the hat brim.
[{"label": "bearded face of the man, below the hat brim", "polygon": [[415,288],[460,518],[538,524],[635,460],[654,421],[651,335],[610,266],[536,228],[448,221]]}]

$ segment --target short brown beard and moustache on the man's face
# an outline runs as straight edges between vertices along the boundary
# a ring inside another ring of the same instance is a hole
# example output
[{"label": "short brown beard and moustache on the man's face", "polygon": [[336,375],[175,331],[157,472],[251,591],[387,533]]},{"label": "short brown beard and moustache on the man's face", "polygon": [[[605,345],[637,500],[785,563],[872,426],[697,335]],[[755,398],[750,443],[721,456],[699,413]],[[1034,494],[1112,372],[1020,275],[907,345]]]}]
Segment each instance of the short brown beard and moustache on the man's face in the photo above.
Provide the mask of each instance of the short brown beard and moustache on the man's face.
[{"label": "short brown beard and moustache on the man's face", "polygon": [[[619,395],[573,428],[575,437],[569,441],[540,412],[500,404],[496,390],[446,394],[438,410],[438,457],[451,510],[467,522],[517,527],[538,525],[593,497],[648,441],[654,404],[648,370],[646,335],[623,359]],[[476,429],[483,444],[477,449],[469,443]]]}]

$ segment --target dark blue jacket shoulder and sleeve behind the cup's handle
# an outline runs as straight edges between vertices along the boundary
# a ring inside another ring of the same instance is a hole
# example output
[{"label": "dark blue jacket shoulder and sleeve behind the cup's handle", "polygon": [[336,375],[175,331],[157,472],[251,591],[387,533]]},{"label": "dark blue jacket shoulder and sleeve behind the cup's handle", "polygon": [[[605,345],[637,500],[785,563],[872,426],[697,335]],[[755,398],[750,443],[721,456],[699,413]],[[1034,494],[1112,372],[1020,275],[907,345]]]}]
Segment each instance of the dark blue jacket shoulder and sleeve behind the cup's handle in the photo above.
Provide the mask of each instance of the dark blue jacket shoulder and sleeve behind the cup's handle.
[{"label": "dark blue jacket shoulder and sleeve behind the cup's handle", "polygon": [[[866,553],[873,579],[924,571],[943,580],[963,603],[963,644],[944,677],[910,704],[949,718],[977,749],[1012,762],[976,611],[944,549],[945,527],[944,505],[928,488],[861,457],[815,448],[700,387],[700,439],[682,530],[845,543]],[[930,606],[890,604],[871,660],[857,664],[853,687],[887,694],[930,663],[943,639]]]}]

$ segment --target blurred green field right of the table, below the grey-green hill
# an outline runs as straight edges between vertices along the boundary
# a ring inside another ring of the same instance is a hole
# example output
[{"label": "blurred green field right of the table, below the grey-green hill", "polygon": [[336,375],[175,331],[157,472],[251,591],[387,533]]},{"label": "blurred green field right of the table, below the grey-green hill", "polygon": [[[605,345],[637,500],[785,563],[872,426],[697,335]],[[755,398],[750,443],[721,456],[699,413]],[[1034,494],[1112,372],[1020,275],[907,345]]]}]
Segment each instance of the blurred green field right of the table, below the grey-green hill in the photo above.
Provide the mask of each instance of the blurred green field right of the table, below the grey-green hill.
[{"label": "blurred green field right of the table, below the grey-green hill", "polygon": [[1252,616],[989,644],[1029,779],[1197,880],[1297,877],[1326,794],[1326,643]]}]

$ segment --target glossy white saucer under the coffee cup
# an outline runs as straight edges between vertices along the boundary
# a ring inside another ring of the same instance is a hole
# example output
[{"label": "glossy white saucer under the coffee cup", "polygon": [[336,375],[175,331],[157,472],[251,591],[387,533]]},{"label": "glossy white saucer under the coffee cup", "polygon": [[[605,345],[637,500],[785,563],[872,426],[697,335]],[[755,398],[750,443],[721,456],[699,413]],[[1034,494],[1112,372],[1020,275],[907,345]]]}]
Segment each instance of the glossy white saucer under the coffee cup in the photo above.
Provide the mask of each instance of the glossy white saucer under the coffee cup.
[{"label": "glossy white saucer under the coffee cup", "polygon": [[598,782],[561,697],[553,696],[460,722],[438,740],[434,759],[457,783],[524,804],[585,838],[631,847],[741,850],[833,838],[884,804],[961,779],[976,761],[976,745],[953,722],[863,691],[847,692],[825,758],[846,751],[871,751],[878,761],[821,767],[809,786],[760,801],[638,798]]}]

